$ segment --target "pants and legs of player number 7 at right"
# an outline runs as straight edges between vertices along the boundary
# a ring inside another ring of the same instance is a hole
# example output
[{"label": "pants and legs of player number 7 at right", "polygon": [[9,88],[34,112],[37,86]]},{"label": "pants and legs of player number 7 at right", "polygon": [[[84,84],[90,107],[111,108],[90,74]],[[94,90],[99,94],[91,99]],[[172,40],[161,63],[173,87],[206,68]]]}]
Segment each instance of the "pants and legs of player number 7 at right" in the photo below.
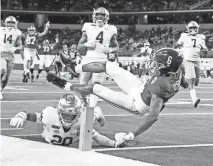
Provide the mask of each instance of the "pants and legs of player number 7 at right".
[{"label": "pants and legs of player number 7 at right", "polygon": [[200,77],[200,63],[194,61],[184,61],[185,76],[189,84],[189,92],[192,99],[192,104],[196,108],[200,103],[200,99],[197,98],[195,86],[199,84]]}]

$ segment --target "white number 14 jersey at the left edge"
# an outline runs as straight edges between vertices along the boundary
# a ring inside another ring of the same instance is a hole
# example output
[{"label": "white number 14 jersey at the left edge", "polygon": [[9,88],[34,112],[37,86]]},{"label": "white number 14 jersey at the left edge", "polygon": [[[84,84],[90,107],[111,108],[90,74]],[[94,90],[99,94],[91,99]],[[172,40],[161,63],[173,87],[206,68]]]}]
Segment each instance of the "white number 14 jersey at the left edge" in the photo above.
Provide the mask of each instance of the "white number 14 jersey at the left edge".
[{"label": "white number 14 jersey at the left edge", "polygon": [[11,47],[15,47],[21,31],[17,28],[9,30],[7,27],[0,27],[0,51],[9,52]]}]

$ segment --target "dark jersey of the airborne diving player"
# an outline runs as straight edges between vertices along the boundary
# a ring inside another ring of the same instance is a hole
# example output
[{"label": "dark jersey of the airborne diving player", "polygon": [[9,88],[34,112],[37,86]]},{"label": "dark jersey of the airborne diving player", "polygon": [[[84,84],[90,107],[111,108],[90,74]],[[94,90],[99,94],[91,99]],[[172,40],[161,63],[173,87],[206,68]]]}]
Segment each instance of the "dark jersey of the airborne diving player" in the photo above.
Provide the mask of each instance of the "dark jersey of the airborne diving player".
[{"label": "dark jersey of the airborne diving player", "polygon": [[170,75],[151,78],[141,94],[144,103],[150,105],[151,93],[161,97],[164,102],[168,101],[179,91],[181,79],[182,71],[179,71],[176,76]]}]

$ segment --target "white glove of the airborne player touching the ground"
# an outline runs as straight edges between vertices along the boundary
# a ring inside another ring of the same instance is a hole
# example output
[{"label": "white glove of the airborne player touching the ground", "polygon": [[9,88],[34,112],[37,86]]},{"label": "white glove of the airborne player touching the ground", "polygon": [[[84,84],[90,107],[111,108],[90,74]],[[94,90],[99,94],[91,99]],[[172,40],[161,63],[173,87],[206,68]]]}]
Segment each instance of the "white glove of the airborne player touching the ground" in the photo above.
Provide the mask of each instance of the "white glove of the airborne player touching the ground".
[{"label": "white glove of the airborne player touching the ground", "polygon": [[115,134],[115,140],[117,142],[117,144],[119,145],[119,147],[124,147],[129,145],[133,140],[134,140],[135,136],[133,133],[129,132],[129,133],[116,133]]}]

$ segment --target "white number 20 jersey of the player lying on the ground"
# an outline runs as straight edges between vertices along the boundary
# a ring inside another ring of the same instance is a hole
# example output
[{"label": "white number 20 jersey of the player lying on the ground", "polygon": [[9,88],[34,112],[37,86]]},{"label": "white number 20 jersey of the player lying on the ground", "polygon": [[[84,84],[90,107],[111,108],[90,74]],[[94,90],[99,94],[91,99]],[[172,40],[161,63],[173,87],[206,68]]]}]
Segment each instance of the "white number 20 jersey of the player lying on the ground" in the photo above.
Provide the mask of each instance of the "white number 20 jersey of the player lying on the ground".
[{"label": "white number 20 jersey of the player lying on the ground", "polygon": [[80,117],[77,117],[70,129],[62,126],[58,111],[54,107],[46,107],[37,114],[37,122],[43,124],[42,137],[50,144],[69,146],[79,140]]}]

